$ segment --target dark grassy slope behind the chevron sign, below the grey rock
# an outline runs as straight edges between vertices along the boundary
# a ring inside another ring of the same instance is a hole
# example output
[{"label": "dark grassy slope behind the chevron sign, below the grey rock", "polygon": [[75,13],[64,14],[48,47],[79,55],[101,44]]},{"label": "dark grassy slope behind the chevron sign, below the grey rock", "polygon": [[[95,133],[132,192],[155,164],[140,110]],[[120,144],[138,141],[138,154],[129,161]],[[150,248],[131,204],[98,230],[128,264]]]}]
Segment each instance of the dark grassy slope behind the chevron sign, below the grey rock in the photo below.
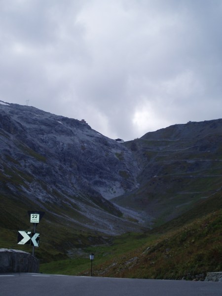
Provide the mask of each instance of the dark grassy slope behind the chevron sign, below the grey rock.
[{"label": "dark grassy slope behind the chevron sign, below the grey rock", "polygon": [[[28,211],[36,209],[36,204],[30,199],[13,196],[0,196],[0,248],[18,249],[32,253],[32,246],[18,245],[18,230],[34,231],[30,223]],[[45,207],[47,206],[47,211]],[[94,244],[103,244],[109,237],[100,233],[89,232],[83,225],[77,225],[67,217],[77,217],[72,208],[55,204],[41,204],[38,211],[45,211],[42,220],[37,224],[36,232],[40,233],[39,247],[35,254],[40,262],[69,258],[70,250]],[[59,213],[56,214],[56,213]],[[87,222],[87,221],[86,221]]]}]

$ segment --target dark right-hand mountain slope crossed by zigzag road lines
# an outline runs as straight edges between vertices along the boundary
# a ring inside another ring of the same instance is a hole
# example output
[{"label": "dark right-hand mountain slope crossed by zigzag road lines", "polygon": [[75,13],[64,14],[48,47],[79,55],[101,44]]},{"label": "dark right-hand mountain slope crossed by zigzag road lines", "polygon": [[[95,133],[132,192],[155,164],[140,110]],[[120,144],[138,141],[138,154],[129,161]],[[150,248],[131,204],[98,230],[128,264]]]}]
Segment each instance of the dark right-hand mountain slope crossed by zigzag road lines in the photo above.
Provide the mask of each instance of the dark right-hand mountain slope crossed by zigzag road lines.
[{"label": "dark right-hand mountain slope crossed by zigzag road lines", "polygon": [[222,189],[222,119],[172,125],[124,145],[138,161],[140,186],[113,201],[157,223]]}]

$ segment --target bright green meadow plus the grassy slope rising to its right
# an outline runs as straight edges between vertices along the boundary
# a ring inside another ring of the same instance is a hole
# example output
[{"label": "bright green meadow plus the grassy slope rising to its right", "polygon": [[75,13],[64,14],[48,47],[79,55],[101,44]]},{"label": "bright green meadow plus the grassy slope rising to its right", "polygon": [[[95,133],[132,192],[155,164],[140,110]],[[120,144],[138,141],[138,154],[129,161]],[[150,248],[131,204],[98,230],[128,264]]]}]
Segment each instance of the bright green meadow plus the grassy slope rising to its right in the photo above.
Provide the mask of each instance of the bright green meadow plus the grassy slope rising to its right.
[{"label": "bright green meadow plus the grassy slope rising to its right", "polygon": [[203,279],[222,270],[222,193],[144,234],[128,233],[105,246],[81,250],[73,259],[41,265],[42,272],[108,277]]}]

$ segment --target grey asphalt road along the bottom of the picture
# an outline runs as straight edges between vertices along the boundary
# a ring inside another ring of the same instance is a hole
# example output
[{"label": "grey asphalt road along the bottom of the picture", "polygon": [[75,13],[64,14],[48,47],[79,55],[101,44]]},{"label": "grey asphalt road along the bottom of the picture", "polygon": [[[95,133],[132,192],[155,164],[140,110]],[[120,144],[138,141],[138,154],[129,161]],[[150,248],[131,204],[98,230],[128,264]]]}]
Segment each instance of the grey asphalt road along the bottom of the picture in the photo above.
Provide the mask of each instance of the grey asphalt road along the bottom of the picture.
[{"label": "grey asphalt road along the bottom of the picture", "polygon": [[0,296],[222,296],[222,282],[7,273]]}]

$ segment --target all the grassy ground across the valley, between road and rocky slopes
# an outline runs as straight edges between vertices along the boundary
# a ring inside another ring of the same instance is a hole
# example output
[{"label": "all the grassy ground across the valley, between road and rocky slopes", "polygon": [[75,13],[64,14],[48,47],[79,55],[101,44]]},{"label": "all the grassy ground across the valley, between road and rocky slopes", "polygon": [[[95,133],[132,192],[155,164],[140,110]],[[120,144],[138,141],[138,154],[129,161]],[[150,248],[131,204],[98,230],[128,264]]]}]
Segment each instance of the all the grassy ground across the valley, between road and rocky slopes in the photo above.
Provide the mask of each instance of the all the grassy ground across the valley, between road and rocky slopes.
[{"label": "all the grassy ground across the valley, between road and rocky slopes", "polygon": [[[2,198],[0,247],[32,253],[31,246],[17,245],[15,230],[18,225],[20,230],[31,229],[27,211],[32,204],[24,202],[21,206],[14,197],[11,210],[6,211],[6,202],[8,199]],[[180,217],[144,233],[109,237],[83,232],[62,219],[50,217],[50,213],[42,218],[37,232],[40,246],[36,248],[36,256],[41,262],[41,272],[90,275],[92,252],[95,276],[204,277],[208,271],[222,270],[222,191],[200,200]]]}]

